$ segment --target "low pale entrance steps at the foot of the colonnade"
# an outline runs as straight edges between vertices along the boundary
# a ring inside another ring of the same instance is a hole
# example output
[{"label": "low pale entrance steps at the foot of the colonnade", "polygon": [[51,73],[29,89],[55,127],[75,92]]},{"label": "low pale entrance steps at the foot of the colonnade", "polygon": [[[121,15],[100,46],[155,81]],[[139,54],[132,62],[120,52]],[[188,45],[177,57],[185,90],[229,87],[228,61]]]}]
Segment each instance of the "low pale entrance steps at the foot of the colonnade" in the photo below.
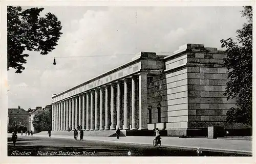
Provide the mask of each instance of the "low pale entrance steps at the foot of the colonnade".
[{"label": "low pale entrance steps at the foot of the colonnade", "polygon": [[[42,131],[39,132],[38,134],[47,134],[48,131]],[[51,135],[65,135],[65,136],[73,136],[74,131],[52,131]],[[78,136],[79,136],[79,131],[78,131]],[[83,136],[110,136],[114,137],[116,136],[116,130],[84,130],[83,131]],[[126,136],[126,130],[120,130],[120,136]]]}]

